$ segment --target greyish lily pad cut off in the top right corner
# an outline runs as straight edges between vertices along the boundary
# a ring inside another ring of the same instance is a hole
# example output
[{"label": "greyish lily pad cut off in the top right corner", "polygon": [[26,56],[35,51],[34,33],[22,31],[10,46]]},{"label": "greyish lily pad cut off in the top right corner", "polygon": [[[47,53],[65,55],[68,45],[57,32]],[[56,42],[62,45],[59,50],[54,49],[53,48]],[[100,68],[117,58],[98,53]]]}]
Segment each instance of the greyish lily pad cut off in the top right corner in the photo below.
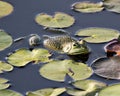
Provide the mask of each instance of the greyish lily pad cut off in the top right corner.
[{"label": "greyish lily pad cut off in the top right corner", "polygon": [[120,13],[120,0],[103,0],[106,10]]}]

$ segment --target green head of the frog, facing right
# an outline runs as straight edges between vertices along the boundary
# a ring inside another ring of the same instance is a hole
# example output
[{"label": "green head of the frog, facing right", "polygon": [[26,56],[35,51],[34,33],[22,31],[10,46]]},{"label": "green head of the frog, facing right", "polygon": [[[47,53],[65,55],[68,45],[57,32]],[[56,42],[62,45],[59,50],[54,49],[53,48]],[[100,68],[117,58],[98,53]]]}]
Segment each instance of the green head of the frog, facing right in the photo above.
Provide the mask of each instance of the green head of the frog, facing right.
[{"label": "green head of the frog, facing right", "polygon": [[72,42],[71,49],[68,51],[69,55],[80,55],[80,54],[88,54],[90,52],[89,48],[86,45],[84,40],[80,40],[77,42]]}]

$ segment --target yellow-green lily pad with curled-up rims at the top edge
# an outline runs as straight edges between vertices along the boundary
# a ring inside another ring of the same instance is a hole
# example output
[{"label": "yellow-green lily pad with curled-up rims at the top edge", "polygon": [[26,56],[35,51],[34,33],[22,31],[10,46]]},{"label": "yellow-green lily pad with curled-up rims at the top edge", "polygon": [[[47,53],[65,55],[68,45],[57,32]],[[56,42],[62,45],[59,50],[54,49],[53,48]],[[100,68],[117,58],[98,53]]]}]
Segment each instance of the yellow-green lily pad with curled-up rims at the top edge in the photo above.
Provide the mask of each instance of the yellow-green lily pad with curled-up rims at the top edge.
[{"label": "yellow-green lily pad with curled-up rims at the top edge", "polygon": [[89,1],[76,2],[72,5],[72,9],[82,13],[95,13],[104,9],[103,3],[92,3]]}]

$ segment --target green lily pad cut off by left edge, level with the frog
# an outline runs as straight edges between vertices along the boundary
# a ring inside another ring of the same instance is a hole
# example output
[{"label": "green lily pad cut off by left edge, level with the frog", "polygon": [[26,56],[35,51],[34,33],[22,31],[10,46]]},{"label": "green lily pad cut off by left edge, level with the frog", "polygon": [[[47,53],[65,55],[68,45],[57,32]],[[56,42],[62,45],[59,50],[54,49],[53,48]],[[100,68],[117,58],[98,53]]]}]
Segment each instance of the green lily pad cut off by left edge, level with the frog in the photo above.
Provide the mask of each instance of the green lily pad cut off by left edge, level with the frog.
[{"label": "green lily pad cut off by left edge, level with the frog", "polygon": [[6,33],[4,30],[0,29],[0,51],[11,46],[12,42],[12,37],[8,35],[8,33]]}]

